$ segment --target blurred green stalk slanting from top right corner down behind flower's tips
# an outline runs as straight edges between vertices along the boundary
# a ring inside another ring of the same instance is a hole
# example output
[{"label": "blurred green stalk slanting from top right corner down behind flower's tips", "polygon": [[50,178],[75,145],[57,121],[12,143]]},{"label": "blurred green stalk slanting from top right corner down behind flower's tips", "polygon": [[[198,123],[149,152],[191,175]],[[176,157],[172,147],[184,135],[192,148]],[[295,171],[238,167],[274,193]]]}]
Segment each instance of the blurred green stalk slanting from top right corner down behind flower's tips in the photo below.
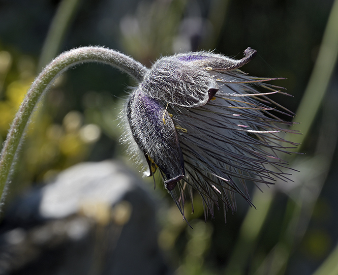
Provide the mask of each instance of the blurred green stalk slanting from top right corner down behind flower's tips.
[{"label": "blurred green stalk slanting from top right corner down behind flower's tips", "polygon": [[[324,98],[325,92],[328,87],[329,80],[332,76],[334,66],[336,64],[336,59],[338,56],[338,0],[335,0],[331,13],[328,18],[326,29],[324,32],[322,44],[319,50],[319,54],[314,66],[313,73],[309,80],[308,87],[305,90],[304,96],[300,103],[300,106],[297,110],[297,116],[295,121],[300,122],[300,124],[295,124],[292,127],[292,130],[299,130],[302,135],[293,135],[287,134],[286,140],[292,140],[296,143],[301,143],[304,141],[306,136],[309,134],[310,128],[313,124],[313,121],[318,113],[318,110],[321,106],[322,100]],[[295,151],[300,151],[300,146],[295,149]],[[261,192],[256,191],[253,196],[253,201],[259,201],[261,198]],[[234,255],[239,256],[240,251],[240,262],[238,262],[235,256],[231,257],[229,260],[228,268],[226,269],[226,274],[243,274],[245,267],[247,267],[248,258],[253,253],[255,243],[259,237],[259,234],[262,230],[263,224],[269,213],[269,208],[272,204],[274,198],[274,193],[267,190],[264,192],[264,201],[260,202],[257,207],[266,207],[264,211],[255,211],[251,209],[247,216],[245,217],[243,224],[240,229],[239,239],[237,241],[236,247],[234,249]],[[295,213],[297,215],[297,213]],[[250,221],[253,222],[253,232],[249,232],[247,225]],[[244,255],[244,258],[243,258]],[[232,270],[235,270],[235,273],[231,273]],[[322,273],[324,274],[324,273]]]}]

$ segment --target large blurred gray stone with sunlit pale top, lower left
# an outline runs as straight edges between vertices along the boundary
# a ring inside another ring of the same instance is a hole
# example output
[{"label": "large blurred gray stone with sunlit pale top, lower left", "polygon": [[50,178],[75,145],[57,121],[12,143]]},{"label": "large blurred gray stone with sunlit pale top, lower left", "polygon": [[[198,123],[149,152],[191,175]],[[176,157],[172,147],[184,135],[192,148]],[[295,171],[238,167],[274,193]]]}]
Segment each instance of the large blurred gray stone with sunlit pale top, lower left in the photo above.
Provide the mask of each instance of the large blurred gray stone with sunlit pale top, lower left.
[{"label": "large blurred gray stone with sunlit pale top, lower left", "polygon": [[0,225],[0,274],[169,274],[155,203],[125,167],[78,164],[19,198]]}]

